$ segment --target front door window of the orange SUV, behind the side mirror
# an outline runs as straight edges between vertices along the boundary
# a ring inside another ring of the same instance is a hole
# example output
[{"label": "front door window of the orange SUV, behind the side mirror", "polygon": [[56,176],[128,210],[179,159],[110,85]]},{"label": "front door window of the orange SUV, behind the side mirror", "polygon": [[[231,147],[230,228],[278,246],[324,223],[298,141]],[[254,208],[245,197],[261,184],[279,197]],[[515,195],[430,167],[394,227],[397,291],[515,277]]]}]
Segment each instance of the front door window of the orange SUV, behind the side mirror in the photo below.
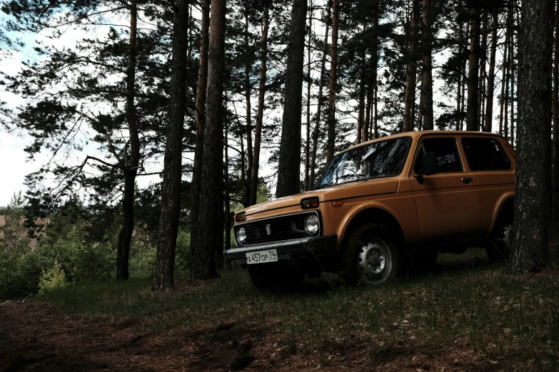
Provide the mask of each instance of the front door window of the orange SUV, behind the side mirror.
[{"label": "front door window of the orange SUV, behind the side mirror", "polygon": [[454,138],[427,138],[421,141],[416,165],[413,167],[418,174],[423,173],[424,153],[435,153],[440,173],[463,172],[464,170]]}]

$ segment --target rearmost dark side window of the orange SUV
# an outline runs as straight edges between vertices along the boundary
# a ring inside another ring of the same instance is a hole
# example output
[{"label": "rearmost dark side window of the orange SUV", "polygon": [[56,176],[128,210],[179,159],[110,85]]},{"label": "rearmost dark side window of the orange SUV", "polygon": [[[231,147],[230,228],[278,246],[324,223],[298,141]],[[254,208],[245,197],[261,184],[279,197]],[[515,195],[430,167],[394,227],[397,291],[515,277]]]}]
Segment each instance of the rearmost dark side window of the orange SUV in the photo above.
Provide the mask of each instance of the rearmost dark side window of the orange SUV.
[{"label": "rearmost dark side window of the orange SUV", "polygon": [[510,160],[494,138],[462,138],[470,170],[510,170]]}]

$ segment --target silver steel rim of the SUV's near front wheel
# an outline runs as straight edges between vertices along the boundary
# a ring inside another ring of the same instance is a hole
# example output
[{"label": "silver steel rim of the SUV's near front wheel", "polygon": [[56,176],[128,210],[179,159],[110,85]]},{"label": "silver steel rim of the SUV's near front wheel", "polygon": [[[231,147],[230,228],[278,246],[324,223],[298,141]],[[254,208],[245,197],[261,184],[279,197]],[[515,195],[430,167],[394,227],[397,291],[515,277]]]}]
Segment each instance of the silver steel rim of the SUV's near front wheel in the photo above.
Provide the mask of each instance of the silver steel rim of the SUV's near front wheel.
[{"label": "silver steel rim of the SUV's near front wheel", "polygon": [[381,239],[363,243],[357,257],[357,269],[361,279],[369,284],[381,284],[392,271],[392,254]]}]

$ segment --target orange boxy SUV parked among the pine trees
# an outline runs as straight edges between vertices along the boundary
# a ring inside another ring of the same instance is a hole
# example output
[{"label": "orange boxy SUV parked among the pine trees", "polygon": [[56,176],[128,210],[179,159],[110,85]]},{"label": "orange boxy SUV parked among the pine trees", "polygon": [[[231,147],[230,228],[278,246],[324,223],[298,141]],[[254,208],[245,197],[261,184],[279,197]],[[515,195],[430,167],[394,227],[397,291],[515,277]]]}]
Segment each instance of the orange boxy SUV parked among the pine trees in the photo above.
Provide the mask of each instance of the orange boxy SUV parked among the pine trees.
[{"label": "orange boxy SUV parked among the pine trees", "polygon": [[468,247],[495,261],[510,255],[514,195],[515,151],[500,135],[391,135],[338,153],[314,190],[238,212],[223,257],[260,289],[321,272],[381,284]]}]

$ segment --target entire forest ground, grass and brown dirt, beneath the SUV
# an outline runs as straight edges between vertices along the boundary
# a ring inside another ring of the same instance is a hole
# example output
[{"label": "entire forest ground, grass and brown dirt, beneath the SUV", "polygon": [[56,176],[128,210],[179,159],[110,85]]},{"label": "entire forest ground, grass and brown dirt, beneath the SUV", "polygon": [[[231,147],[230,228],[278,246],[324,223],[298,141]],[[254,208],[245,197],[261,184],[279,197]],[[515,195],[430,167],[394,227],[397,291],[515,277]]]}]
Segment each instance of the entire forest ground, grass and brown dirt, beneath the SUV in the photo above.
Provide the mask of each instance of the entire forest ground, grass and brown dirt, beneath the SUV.
[{"label": "entire forest ground, grass and brown dirt, beneath the SUV", "polygon": [[240,269],[149,287],[0,304],[0,371],[559,370],[559,271],[511,275],[477,249],[374,288],[323,276],[258,292]]}]

